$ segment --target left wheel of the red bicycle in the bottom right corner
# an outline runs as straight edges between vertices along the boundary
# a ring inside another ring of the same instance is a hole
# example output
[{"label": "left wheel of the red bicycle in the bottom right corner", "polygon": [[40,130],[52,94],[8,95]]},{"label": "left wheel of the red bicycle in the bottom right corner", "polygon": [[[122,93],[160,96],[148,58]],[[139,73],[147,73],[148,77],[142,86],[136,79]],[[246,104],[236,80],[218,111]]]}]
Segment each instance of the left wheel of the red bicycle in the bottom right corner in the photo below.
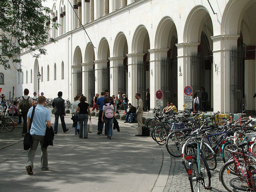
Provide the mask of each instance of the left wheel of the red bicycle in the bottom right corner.
[{"label": "left wheel of the red bicycle in the bottom right corner", "polygon": [[[238,162],[243,172],[246,173],[246,168],[243,159],[239,159]],[[242,186],[244,186],[245,182],[242,171],[239,169],[238,164],[234,164],[233,160],[226,162],[221,167],[219,178],[224,188],[227,189],[229,192],[241,190],[238,189],[237,187],[240,186],[241,188],[243,188]],[[238,180],[239,183],[237,183]],[[236,189],[234,188],[234,186],[236,186]]]}]

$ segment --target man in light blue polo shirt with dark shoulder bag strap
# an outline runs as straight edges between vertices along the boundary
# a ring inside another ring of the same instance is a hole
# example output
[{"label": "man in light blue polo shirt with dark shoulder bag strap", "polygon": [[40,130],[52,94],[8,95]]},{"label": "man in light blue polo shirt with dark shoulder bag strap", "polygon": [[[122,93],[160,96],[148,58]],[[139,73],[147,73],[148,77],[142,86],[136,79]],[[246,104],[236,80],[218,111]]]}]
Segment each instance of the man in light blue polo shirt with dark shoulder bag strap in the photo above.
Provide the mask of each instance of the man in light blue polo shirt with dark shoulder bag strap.
[{"label": "man in light blue polo shirt with dark shoulder bag strap", "polygon": [[[34,167],[33,163],[36,155],[36,148],[39,142],[42,150],[41,170],[46,171],[49,169],[47,148],[43,148],[43,144],[44,144],[46,126],[49,129],[51,127],[51,113],[49,109],[44,108],[45,101],[46,101],[46,98],[44,96],[38,97],[38,105],[35,108],[35,113],[33,116],[32,125],[30,129],[30,134],[33,137],[33,144],[28,151],[28,160],[26,163],[26,169],[29,175],[33,174],[32,172],[32,169]],[[28,110],[27,125],[29,125],[32,111],[33,111],[33,108],[30,108]]]}]

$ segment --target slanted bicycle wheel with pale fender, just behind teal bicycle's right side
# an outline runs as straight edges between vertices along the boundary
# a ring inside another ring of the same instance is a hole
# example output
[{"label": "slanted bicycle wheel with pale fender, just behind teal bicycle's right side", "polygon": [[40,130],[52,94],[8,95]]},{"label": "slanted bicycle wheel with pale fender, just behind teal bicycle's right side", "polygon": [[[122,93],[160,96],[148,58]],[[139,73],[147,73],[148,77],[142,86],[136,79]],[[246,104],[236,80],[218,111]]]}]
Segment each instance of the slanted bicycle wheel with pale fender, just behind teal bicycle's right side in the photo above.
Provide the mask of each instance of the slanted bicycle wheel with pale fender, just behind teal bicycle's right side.
[{"label": "slanted bicycle wheel with pale fender, just behind teal bicycle's right side", "polygon": [[216,155],[212,148],[209,145],[206,145],[206,143],[203,143],[202,153],[204,154],[204,158],[206,160],[207,165],[209,166],[209,169],[215,170],[217,167],[217,160]]}]

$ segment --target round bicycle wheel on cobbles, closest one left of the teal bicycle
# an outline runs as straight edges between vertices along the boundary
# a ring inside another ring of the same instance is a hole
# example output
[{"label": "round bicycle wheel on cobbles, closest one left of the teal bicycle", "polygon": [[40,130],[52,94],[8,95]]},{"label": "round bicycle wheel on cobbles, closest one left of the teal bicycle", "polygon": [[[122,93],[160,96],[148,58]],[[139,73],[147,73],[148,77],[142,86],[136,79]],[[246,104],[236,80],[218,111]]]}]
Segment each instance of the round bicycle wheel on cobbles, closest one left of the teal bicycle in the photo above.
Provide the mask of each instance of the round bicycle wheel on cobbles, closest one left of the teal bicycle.
[{"label": "round bicycle wheel on cobbles, closest one left of the teal bicycle", "polygon": [[183,139],[179,139],[180,136],[183,135],[183,132],[173,130],[166,139],[166,149],[171,156],[180,157],[182,152],[182,141]]}]

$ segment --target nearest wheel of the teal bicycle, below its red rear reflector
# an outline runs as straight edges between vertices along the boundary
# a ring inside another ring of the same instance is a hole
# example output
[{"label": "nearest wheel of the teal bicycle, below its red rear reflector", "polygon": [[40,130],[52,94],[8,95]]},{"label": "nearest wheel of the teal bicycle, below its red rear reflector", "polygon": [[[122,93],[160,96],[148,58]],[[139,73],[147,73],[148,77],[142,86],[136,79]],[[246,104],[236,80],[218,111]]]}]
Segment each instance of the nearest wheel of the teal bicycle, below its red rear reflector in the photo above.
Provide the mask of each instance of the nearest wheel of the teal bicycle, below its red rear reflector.
[{"label": "nearest wheel of the teal bicycle, below its red rear reflector", "polygon": [[200,183],[198,181],[199,172],[198,172],[197,161],[195,158],[191,159],[191,161],[188,163],[188,169],[191,169],[191,175],[188,176],[191,192],[199,192],[200,191]]}]

